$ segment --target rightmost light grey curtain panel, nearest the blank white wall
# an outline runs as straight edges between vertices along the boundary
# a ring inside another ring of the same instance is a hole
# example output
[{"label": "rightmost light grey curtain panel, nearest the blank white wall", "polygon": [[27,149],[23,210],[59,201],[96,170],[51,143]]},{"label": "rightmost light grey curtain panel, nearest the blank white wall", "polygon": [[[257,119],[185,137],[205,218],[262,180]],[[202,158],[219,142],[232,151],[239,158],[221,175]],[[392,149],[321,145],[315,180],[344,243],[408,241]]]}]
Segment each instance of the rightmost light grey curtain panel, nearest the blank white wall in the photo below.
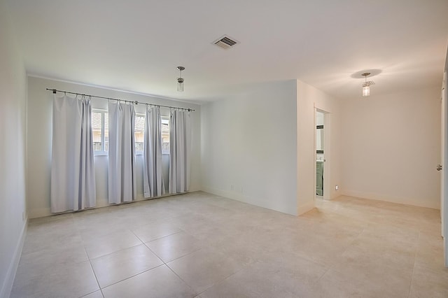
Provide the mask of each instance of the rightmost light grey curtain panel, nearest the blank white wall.
[{"label": "rightmost light grey curtain panel, nearest the blank white wall", "polygon": [[169,118],[169,193],[190,187],[190,112],[172,109]]}]

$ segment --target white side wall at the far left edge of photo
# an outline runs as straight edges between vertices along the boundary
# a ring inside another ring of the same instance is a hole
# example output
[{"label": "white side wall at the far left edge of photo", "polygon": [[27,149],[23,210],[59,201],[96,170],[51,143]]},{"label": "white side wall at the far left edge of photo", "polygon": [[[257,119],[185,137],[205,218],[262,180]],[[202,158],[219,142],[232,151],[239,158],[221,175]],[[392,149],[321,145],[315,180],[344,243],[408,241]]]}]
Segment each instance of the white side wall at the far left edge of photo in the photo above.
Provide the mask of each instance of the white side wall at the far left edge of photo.
[{"label": "white side wall at the far left edge of photo", "polygon": [[0,297],[8,297],[25,239],[27,77],[0,1]]}]

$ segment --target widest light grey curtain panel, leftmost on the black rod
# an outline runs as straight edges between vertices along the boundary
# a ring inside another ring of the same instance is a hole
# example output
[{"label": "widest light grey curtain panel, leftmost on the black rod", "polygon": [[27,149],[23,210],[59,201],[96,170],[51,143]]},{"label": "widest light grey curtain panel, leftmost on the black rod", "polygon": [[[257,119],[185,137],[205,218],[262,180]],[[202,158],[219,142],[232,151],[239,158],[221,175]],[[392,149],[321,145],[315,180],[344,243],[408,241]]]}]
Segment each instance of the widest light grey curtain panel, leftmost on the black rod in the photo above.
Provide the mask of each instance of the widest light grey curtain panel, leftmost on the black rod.
[{"label": "widest light grey curtain panel, leftmost on the black rod", "polygon": [[51,212],[96,204],[90,98],[53,96]]}]

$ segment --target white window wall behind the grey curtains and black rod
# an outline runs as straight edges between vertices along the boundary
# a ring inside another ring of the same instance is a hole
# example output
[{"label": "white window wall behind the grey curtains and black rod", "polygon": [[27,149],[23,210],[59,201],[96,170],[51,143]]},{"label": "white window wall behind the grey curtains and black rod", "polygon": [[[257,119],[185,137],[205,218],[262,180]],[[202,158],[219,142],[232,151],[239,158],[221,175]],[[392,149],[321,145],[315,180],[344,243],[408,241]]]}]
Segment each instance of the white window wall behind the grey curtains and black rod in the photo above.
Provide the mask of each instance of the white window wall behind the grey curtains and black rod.
[{"label": "white window wall behind the grey curtains and black rod", "polygon": [[[52,92],[46,88],[79,92],[139,101],[142,103],[160,104],[165,106],[179,106],[181,108],[194,108],[192,112],[193,154],[191,166],[190,191],[200,190],[200,114],[201,107],[196,104],[186,104],[181,101],[147,97],[140,94],[107,90],[99,87],[65,83],[45,78],[28,78],[28,180],[27,180],[27,206],[30,218],[50,215],[50,168],[51,168],[51,142],[52,142]],[[106,99],[92,99],[93,108],[107,108]],[[143,104],[135,106],[137,113],[145,113]],[[161,108],[162,115],[169,115],[168,108]],[[165,164],[167,167],[167,157]],[[96,156],[95,178],[97,183],[97,206],[106,206],[107,200],[107,156]],[[136,158],[137,163],[137,199],[143,199],[143,156]],[[167,169],[166,169],[167,171]]]}]

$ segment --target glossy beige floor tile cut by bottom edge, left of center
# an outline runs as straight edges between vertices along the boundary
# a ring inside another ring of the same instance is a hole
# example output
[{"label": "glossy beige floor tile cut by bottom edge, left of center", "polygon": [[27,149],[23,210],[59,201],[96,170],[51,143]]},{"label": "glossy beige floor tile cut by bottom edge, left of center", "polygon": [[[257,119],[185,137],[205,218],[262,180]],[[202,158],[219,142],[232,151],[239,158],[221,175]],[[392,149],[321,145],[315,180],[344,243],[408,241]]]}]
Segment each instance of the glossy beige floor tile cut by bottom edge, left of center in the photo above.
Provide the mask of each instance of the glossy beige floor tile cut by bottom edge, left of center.
[{"label": "glossy beige floor tile cut by bottom edge, left of center", "polygon": [[193,298],[197,295],[165,265],[120,281],[102,291],[105,298]]}]

